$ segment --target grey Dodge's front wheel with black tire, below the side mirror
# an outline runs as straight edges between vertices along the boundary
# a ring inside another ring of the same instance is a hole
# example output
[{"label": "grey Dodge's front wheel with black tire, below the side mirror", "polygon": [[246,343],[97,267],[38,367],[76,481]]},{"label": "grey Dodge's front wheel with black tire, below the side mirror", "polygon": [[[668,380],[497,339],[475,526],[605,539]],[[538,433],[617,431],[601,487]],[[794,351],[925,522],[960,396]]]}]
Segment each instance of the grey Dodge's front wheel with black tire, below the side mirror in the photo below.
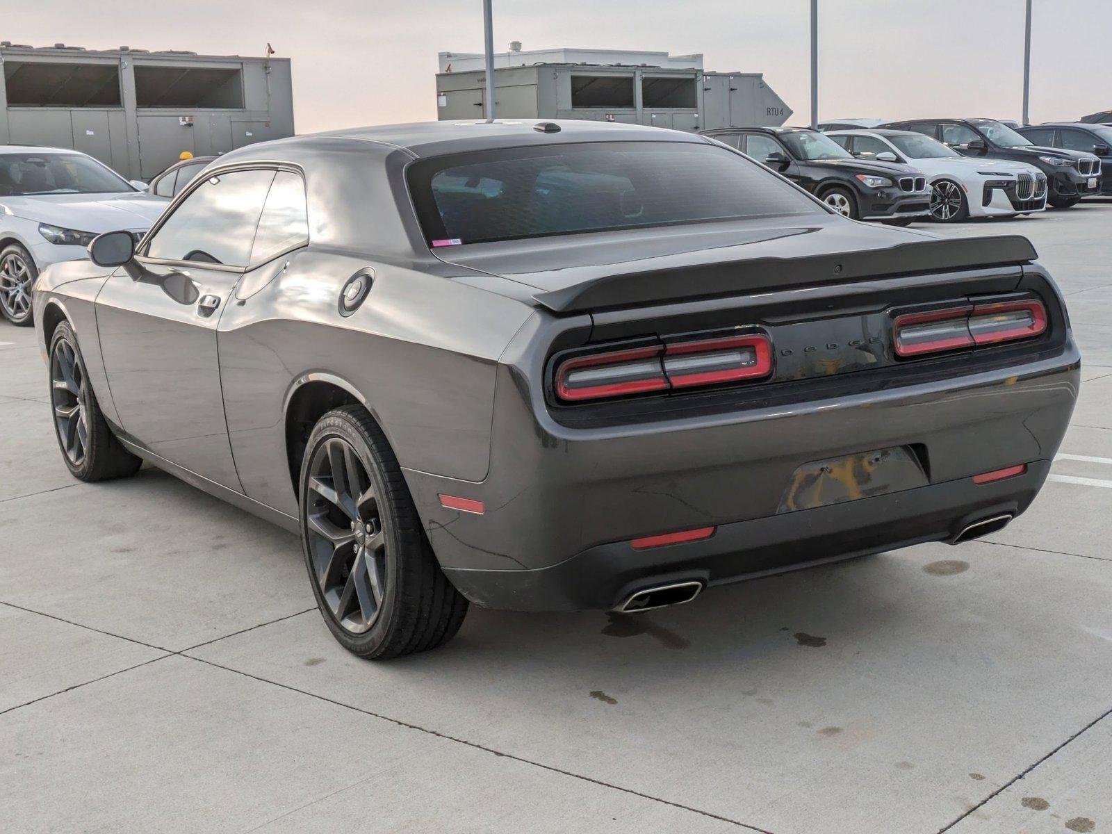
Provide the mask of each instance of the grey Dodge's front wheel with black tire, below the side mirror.
[{"label": "grey Dodge's front wheel with black tire, below the side mirror", "polygon": [[54,436],[70,474],[85,481],[135,475],[142,459],[120,445],[105,420],[67,321],[54,328],[49,356]]}]

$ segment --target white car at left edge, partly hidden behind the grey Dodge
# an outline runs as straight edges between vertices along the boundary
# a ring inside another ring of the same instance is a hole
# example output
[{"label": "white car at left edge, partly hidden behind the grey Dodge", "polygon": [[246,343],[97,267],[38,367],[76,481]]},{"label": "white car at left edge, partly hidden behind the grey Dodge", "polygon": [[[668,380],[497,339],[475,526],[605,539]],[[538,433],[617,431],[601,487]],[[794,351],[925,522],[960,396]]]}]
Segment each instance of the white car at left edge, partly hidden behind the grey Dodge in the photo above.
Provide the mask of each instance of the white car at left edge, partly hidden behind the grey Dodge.
[{"label": "white car at left edge, partly hidden behind the grey Dodge", "polygon": [[103,231],[146,234],[167,205],[85,153],[0,146],[0,314],[30,326],[40,271],[87,257]]}]

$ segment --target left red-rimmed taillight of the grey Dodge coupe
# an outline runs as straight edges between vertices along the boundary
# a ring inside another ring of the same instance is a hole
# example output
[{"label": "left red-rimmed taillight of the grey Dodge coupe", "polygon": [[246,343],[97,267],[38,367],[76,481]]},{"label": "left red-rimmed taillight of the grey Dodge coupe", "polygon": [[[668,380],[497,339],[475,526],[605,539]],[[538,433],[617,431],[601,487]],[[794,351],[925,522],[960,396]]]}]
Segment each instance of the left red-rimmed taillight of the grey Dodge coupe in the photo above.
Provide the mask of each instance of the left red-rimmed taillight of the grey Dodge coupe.
[{"label": "left red-rimmed taillight of the grey Dodge coupe", "polygon": [[575,403],[759,379],[771,373],[766,336],[676,340],[566,359],[556,369],[556,394]]}]

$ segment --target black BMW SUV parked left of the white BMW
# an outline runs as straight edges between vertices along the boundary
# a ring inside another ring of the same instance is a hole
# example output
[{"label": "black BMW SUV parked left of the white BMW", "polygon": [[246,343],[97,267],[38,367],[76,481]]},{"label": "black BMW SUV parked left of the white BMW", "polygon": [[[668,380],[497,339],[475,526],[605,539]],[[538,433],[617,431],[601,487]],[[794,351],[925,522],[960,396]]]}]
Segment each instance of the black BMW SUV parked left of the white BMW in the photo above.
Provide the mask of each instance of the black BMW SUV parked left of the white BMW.
[{"label": "black BMW SUV parked left of the white BMW", "polygon": [[906,225],[931,214],[922,171],[894,161],[863,162],[817,130],[732,128],[703,133],[763,162],[854,220]]}]

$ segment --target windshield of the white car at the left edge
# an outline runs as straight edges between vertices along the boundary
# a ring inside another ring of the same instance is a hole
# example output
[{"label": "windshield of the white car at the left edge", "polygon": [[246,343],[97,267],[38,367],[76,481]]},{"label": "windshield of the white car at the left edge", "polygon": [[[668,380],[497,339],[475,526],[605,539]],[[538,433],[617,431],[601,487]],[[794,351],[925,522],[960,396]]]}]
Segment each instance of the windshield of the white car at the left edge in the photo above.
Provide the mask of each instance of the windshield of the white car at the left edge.
[{"label": "windshield of the white car at the left edge", "polygon": [[123,193],[136,189],[80,153],[0,153],[0,196]]}]

